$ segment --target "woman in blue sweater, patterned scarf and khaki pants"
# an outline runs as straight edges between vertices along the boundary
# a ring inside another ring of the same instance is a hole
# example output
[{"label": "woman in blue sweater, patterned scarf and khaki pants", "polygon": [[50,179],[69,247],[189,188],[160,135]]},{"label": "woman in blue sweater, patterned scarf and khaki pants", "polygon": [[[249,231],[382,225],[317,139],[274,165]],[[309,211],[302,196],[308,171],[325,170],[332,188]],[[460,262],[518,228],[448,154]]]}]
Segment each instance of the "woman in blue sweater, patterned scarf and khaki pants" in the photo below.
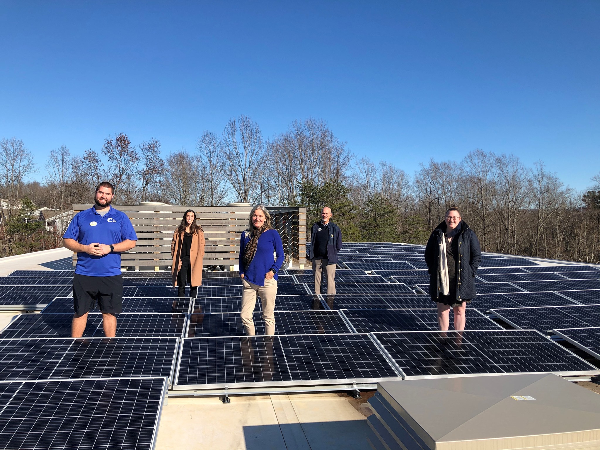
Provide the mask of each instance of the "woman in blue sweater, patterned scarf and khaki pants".
[{"label": "woman in blue sweater, patterned scarf and khaki pants", "polygon": [[258,294],[262,300],[265,334],[273,335],[277,272],[283,264],[283,245],[279,233],[271,227],[271,215],[265,205],[252,208],[248,229],[242,232],[240,241],[239,276],[244,286],[241,312],[244,331],[248,336],[255,334],[252,313]]}]

